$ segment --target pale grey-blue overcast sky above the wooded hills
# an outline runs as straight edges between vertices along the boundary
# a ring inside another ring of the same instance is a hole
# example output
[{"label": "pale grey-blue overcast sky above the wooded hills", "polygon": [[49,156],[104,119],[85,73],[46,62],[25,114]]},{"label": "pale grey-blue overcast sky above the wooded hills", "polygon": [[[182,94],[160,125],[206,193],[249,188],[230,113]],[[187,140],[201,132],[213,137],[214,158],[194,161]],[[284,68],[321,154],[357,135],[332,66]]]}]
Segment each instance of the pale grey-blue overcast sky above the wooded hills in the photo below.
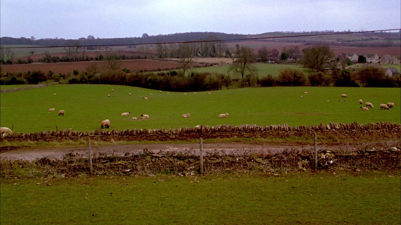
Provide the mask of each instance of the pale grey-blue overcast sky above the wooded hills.
[{"label": "pale grey-blue overcast sky above the wooded hills", "polygon": [[385,30],[401,28],[400,12],[400,0],[0,0],[0,36]]}]

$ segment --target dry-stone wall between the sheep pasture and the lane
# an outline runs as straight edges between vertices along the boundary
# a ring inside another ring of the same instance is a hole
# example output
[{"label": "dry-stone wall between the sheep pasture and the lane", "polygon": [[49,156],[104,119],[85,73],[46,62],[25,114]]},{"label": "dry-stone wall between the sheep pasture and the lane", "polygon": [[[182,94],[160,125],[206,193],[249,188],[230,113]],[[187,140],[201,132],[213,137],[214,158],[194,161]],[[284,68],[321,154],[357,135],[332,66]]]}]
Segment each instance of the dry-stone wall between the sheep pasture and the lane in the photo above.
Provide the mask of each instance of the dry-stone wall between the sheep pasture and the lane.
[{"label": "dry-stone wall between the sheep pasture and the lane", "polygon": [[378,122],[367,125],[359,125],[356,122],[350,124],[330,123],[316,126],[284,125],[218,125],[196,126],[178,129],[133,129],[117,131],[43,131],[38,133],[13,133],[2,137],[1,141],[78,141],[92,139],[95,141],[186,141],[190,139],[225,139],[225,138],[271,138],[271,137],[314,137],[319,139],[383,139],[401,138],[401,125],[395,123]]}]

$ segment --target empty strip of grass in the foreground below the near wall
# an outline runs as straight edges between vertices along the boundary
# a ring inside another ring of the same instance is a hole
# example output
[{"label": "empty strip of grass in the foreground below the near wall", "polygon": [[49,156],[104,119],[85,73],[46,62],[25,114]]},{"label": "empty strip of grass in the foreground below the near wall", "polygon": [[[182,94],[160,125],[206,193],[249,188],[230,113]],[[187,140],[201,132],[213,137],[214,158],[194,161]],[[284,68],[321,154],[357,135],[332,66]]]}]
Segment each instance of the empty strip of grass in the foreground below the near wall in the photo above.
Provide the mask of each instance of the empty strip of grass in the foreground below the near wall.
[{"label": "empty strip of grass in the foreground below the near wall", "polygon": [[399,174],[2,179],[0,219],[2,224],[399,224]]}]

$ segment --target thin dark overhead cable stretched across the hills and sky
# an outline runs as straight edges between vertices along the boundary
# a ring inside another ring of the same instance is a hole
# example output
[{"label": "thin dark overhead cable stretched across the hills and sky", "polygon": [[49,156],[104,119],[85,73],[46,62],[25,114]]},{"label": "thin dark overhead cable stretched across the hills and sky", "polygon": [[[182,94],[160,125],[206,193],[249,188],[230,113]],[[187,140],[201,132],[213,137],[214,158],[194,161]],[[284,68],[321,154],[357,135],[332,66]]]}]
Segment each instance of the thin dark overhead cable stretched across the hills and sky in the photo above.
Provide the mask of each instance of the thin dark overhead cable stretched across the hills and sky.
[{"label": "thin dark overhead cable stretched across the hills and sky", "polygon": [[[215,42],[215,41],[240,41],[240,40],[261,40],[261,39],[277,39],[277,38],[295,38],[295,37],[308,37],[308,36],[327,36],[333,34],[360,34],[369,32],[383,32],[383,31],[394,31],[398,29],[387,29],[387,30],[366,30],[357,32],[333,32],[328,34],[306,34],[306,35],[290,35],[290,36],[278,36],[278,37],[263,37],[263,38],[237,38],[237,39],[225,39],[225,40],[194,40],[194,41],[179,41],[179,42],[151,42],[142,44],[88,44],[88,45],[66,45],[66,46],[35,46],[35,47],[7,47],[7,48],[65,48],[65,47],[97,47],[97,46],[127,46],[127,45],[147,45],[147,44],[182,44],[182,43],[198,43],[198,42]],[[3,47],[5,48],[5,47]]]}]

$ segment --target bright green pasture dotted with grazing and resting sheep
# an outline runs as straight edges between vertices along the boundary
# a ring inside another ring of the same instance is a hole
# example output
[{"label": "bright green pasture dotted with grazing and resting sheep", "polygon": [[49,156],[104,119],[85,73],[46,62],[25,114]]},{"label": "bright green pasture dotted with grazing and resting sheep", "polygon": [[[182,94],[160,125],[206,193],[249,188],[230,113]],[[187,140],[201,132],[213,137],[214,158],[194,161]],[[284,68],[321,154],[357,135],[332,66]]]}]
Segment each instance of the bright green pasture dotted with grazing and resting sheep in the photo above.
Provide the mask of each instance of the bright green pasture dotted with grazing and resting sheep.
[{"label": "bright green pasture dotted with grazing and resting sheep", "polygon": [[[340,98],[341,94],[348,98]],[[57,125],[59,129],[93,131],[100,129],[105,119],[117,130],[220,124],[401,123],[401,88],[271,87],[166,94],[130,86],[71,84],[4,93],[0,98],[1,126],[14,124],[14,131],[24,133],[55,130]],[[375,108],[360,110],[359,99],[372,102]],[[379,104],[387,102],[395,102],[395,108],[380,110]],[[49,108],[56,111],[48,112]],[[64,116],[57,115],[61,109]],[[122,112],[131,115],[121,117]],[[190,118],[181,117],[188,112]],[[218,118],[225,112],[229,113],[227,119]],[[141,114],[150,119],[140,119]]]}]

